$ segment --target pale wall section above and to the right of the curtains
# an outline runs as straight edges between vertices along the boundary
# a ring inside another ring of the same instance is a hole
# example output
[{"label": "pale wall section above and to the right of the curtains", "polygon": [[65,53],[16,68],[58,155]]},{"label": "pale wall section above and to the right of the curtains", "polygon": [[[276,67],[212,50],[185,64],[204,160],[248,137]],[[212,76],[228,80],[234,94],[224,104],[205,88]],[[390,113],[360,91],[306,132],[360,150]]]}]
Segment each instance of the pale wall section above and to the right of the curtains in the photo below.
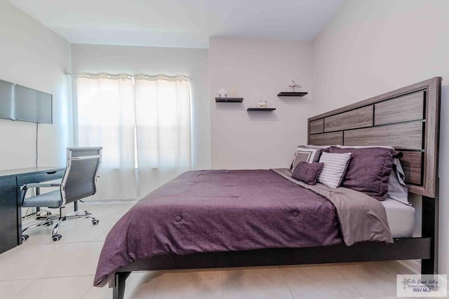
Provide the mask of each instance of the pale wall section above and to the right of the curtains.
[{"label": "pale wall section above and to the right of the curtains", "polygon": [[207,49],[72,44],[72,71],[192,76],[192,167],[210,168]]}]

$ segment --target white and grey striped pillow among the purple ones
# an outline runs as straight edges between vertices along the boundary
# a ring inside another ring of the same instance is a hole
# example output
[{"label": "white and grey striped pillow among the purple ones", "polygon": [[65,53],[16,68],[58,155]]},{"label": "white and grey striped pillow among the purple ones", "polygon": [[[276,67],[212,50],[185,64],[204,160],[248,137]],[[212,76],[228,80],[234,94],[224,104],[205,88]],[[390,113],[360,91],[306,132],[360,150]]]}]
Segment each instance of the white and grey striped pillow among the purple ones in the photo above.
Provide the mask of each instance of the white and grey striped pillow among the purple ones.
[{"label": "white and grey striped pillow among the purple ones", "polygon": [[318,176],[319,183],[331,188],[340,186],[350,160],[351,153],[322,153],[320,163],[324,166]]}]

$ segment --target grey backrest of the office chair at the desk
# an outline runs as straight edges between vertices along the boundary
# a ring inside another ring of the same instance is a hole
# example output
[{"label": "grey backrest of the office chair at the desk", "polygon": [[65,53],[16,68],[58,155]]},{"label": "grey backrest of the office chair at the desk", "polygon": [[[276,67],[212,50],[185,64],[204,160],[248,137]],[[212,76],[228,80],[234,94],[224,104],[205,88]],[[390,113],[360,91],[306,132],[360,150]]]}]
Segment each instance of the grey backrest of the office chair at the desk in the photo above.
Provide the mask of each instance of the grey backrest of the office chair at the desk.
[{"label": "grey backrest of the office chair at the desk", "polygon": [[67,168],[62,177],[62,204],[81,200],[97,192],[101,147],[67,148]]}]

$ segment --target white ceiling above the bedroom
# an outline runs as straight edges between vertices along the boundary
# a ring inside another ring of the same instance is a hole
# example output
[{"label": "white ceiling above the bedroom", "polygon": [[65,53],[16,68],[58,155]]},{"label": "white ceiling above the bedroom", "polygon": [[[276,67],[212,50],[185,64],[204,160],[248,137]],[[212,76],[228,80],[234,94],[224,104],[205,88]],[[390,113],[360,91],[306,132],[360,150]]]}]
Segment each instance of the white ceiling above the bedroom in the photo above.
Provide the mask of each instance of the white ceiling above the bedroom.
[{"label": "white ceiling above the bedroom", "polygon": [[70,43],[208,48],[209,37],[308,41],[343,0],[8,0]]}]

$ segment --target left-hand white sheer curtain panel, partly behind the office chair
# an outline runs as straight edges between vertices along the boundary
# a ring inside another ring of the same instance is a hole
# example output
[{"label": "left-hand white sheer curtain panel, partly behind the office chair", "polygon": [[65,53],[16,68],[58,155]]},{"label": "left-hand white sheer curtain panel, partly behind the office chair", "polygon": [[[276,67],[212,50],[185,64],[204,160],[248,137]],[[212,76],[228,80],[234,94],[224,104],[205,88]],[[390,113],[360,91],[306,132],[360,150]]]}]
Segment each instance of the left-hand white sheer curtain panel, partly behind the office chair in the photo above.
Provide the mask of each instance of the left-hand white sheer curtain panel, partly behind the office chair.
[{"label": "left-hand white sheer curtain panel, partly behind the office chair", "polygon": [[130,76],[80,74],[76,81],[79,146],[102,146],[97,198],[134,199],[135,107]]}]

